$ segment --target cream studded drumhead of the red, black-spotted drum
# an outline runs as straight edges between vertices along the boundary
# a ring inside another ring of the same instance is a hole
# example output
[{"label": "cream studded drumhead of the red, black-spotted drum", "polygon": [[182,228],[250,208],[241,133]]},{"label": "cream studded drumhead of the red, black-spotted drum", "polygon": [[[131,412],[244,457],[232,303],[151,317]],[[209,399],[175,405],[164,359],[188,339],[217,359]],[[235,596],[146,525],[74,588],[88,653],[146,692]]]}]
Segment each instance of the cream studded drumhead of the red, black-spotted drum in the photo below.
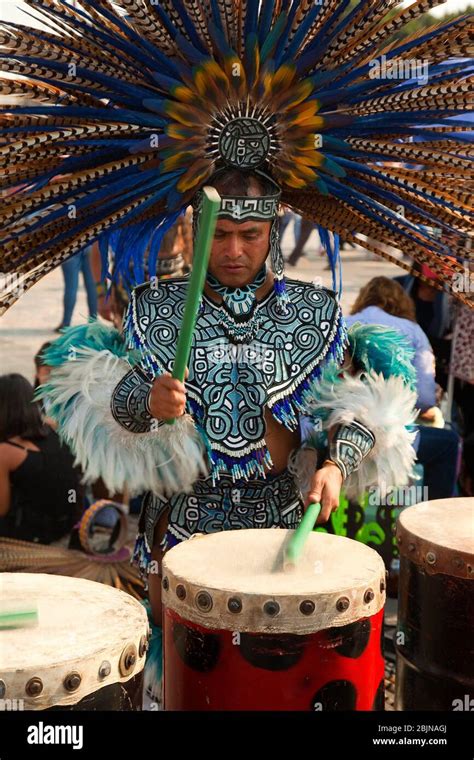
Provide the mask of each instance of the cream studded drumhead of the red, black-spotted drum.
[{"label": "cream studded drumhead of the red, black-spotted drum", "polygon": [[163,560],[163,601],[206,628],[310,633],[375,615],[385,601],[385,566],[373,549],[313,532],[292,571],[283,568],[293,531],[198,535]]}]

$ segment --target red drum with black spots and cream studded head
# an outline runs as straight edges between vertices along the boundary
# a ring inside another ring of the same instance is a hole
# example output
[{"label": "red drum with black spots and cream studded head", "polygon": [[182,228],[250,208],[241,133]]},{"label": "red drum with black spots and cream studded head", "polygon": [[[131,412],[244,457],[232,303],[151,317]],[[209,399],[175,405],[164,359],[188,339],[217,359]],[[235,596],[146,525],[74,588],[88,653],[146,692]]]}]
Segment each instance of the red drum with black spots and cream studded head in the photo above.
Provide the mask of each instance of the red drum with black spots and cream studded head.
[{"label": "red drum with black spots and cream studded head", "polygon": [[380,710],[385,567],[373,549],[292,531],[196,536],[163,561],[166,710]]}]

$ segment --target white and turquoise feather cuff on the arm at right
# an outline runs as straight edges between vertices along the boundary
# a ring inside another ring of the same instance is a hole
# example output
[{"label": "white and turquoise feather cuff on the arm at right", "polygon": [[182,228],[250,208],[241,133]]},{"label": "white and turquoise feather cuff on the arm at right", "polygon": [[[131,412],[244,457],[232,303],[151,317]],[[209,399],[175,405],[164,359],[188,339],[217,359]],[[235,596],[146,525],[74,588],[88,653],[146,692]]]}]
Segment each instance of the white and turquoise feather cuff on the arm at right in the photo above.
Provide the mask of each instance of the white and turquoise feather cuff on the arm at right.
[{"label": "white and turquoise feather cuff on the arm at right", "polygon": [[[384,489],[408,482],[415,459],[411,427],[416,418],[416,372],[411,363],[414,350],[398,330],[356,323],[348,339],[356,374],[335,361],[323,368],[304,412],[310,429],[299,452],[324,448],[333,426],[354,420],[365,425],[375,446],[344,483],[353,498],[372,485]],[[299,452],[295,472],[303,482],[307,473]]]}]

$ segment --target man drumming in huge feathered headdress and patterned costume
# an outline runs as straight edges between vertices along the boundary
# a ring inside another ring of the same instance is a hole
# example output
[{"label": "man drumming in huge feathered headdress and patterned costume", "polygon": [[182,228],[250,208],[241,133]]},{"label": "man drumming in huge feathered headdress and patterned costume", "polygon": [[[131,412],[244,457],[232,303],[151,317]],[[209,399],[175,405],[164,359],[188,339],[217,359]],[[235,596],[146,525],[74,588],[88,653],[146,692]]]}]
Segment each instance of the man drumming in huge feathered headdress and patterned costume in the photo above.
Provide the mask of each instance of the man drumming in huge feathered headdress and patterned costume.
[{"label": "man drumming in huge feathered headdress and patterned costume", "polygon": [[[90,323],[47,355],[50,414],[86,477],[148,492],[135,558],[157,566],[159,622],[159,559],[174,542],[293,527],[314,499],[326,520],[342,483],[407,481],[410,351],[362,327],[347,344],[339,237],[429,264],[440,287],[464,272],[465,252],[430,225],[469,231],[471,22],[396,42],[439,0],[394,14],[397,0],[27,2],[60,33],[2,24],[4,70],[21,74],[2,92],[38,101],[1,116],[2,187],[21,185],[0,213],[3,308],[84,245],[98,239],[105,256],[112,236],[117,275],[132,262],[143,281],[145,251],[155,271],[190,203],[198,228],[202,188],[221,195],[185,384],[167,373],[186,277],[140,285],[123,336]],[[285,279],[280,202],[318,225],[332,291]]]}]

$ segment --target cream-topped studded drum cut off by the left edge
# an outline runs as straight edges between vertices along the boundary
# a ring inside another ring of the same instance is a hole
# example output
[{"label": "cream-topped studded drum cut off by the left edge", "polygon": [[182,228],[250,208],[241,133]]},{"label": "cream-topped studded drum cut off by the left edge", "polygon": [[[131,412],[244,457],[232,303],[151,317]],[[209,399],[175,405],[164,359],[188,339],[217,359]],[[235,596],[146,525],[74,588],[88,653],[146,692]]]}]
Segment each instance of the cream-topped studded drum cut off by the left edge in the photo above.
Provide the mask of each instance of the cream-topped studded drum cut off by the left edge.
[{"label": "cream-topped studded drum cut off by the left edge", "polygon": [[148,620],[136,599],[36,573],[1,573],[0,599],[3,611],[37,610],[36,625],[0,629],[3,708],[141,709]]}]

